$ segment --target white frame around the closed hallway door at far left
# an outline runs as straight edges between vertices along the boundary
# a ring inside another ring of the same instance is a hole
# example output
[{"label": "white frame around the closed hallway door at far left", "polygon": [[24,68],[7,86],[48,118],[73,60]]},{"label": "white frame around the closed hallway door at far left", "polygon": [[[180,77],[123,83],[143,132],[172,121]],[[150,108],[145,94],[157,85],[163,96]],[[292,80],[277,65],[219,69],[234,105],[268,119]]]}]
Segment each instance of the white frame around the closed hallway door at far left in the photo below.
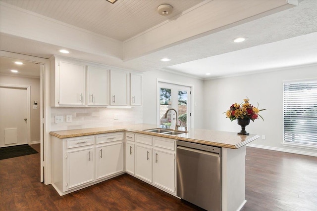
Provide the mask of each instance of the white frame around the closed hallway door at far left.
[{"label": "white frame around the closed hallway door at far left", "polygon": [[26,121],[26,139],[27,143],[31,143],[31,87],[28,85],[11,85],[11,84],[0,84],[2,88],[20,88],[26,90],[26,107],[27,107],[27,121]]}]

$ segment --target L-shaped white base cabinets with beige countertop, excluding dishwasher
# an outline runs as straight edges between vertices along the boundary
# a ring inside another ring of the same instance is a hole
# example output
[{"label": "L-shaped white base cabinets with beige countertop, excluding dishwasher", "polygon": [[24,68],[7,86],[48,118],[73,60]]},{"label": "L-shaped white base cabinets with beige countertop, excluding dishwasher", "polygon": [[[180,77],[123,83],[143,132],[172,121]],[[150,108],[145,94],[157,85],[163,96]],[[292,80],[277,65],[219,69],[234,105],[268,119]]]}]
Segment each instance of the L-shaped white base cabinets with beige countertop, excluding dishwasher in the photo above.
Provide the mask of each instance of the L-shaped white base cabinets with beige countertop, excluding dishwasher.
[{"label": "L-shaped white base cabinets with beige countertop, excluding dishwasher", "polygon": [[[246,144],[258,135],[193,128],[178,135],[145,131],[153,128],[158,126],[137,124],[50,132],[53,187],[64,195],[126,172],[176,196],[176,141],[181,140],[221,148],[221,210],[243,207]],[[161,162],[165,163],[160,166]]]}]

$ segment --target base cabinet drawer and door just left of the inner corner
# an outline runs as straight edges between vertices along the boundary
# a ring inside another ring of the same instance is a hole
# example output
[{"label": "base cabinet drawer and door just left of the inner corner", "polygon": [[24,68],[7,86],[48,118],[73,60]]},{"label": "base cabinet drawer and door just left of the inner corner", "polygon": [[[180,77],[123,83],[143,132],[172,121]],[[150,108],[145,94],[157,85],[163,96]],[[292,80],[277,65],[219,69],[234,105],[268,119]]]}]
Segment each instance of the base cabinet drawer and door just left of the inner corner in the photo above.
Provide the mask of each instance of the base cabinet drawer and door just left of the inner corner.
[{"label": "base cabinet drawer and door just left of the inner corner", "polygon": [[123,132],[96,137],[96,179],[101,179],[123,168]]}]

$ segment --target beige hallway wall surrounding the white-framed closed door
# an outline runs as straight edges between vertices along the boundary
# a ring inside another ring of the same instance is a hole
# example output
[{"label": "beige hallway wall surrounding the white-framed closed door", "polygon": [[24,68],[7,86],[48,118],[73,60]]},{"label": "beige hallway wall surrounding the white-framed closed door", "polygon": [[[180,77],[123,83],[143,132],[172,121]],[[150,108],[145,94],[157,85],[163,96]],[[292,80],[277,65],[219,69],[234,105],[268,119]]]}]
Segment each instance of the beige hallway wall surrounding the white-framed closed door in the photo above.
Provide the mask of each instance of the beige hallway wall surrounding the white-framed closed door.
[{"label": "beige hallway wall surrounding the white-framed closed door", "polygon": [[[40,79],[16,76],[0,76],[0,84],[28,85],[31,89],[31,143],[41,140],[40,134]],[[38,109],[33,109],[34,101],[38,101]]]}]

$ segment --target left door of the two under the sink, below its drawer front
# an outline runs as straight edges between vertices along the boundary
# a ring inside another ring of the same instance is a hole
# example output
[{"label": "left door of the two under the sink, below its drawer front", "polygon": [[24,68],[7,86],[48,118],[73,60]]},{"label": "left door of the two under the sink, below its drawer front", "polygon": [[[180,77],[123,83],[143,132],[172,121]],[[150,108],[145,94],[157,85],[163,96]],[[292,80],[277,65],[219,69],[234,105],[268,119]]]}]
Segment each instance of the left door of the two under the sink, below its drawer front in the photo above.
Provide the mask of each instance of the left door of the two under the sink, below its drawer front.
[{"label": "left door of the two under the sink, below its drawer front", "polygon": [[135,175],[152,182],[152,148],[136,145]]}]

